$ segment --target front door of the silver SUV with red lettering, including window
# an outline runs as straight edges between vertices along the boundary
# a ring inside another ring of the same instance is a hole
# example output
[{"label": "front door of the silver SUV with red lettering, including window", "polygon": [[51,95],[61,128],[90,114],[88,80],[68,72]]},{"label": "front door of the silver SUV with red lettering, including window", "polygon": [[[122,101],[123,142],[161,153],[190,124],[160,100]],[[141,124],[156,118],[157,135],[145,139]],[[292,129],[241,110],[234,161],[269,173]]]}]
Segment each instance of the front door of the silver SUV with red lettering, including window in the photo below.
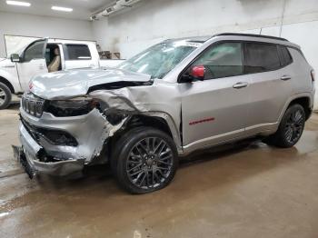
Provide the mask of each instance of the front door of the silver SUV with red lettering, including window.
[{"label": "front door of the silver SUV with red lettering, including window", "polygon": [[250,80],[243,75],[242,45],[216,43],[190,65],[205,72],[202,80],[180,84],[185,151],[243,136]]}]

